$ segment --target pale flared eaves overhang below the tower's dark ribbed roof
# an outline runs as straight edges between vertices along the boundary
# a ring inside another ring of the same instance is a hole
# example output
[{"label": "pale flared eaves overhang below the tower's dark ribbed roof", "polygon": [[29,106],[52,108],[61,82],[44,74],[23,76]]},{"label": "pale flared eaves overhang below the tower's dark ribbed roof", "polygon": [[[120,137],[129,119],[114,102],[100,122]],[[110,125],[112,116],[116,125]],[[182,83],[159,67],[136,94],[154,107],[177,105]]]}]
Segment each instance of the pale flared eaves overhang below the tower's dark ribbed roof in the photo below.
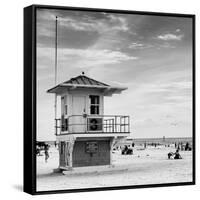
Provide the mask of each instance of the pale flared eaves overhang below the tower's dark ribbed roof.
[{"label": "pale flared eaves overhang below the tower's dark ribbed roof", "polygon": [[76,90],[76,89],[96,89],[100,90],[104,96],[111,96],[112,94],[120,94],[127,87],[112,87],[112,86],[102,86],[102,85],[81,85],[81,84],[59,84],[49,90],[47,93],[54,93],[57,95],[63,94],[66,90]]}]

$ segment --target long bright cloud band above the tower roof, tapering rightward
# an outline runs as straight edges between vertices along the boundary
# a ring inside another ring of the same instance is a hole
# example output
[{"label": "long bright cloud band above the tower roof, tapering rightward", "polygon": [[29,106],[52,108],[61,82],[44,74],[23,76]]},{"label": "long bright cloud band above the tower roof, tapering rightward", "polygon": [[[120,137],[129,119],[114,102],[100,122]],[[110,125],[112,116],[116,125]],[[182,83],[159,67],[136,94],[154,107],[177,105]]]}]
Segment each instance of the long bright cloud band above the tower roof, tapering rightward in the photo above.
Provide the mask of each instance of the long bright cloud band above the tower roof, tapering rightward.
[{"label": "long bright cloud band above the tower roof, tapering rightward", "polygon": [[[51,59],[53,55],[52,48],[38,47],[38,59]],[[62,56],[59,57],[59,54]],[[58,61],[61,64],[67,62],[75,63],[79,68],[104,66],[116,64],[128,60],[136,60],[138,57],[129,56],[121,51],[112,51],[108,49],[60,49],[58,50]],[[38,65],[40,68],[40,65]],[[44,65],[42,66],[44,68]],[[48,68],[48,66],[47,66]]]}]

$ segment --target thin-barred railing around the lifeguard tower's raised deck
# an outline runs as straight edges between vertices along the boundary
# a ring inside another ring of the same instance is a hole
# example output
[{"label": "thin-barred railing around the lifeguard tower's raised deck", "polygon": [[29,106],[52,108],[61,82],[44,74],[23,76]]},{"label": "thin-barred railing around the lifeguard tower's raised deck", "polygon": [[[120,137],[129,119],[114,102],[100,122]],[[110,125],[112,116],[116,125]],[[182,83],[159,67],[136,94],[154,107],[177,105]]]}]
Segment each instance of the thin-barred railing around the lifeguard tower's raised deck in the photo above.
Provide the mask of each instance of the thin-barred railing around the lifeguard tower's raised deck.
[{"label": "thin-barred railing around the lifeguard tower's raised deck", "polygon": [[56,119],[56,135],[69,133],[130,133],[130,117],[85,114]]}]

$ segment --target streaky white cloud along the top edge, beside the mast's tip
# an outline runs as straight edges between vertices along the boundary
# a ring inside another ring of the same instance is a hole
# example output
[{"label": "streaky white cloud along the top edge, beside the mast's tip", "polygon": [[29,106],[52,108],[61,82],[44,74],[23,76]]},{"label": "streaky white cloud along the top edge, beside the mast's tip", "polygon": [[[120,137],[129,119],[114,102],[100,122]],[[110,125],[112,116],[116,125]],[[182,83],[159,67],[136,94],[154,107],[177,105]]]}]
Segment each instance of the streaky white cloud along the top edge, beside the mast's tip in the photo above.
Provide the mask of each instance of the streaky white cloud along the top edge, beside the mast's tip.
[{"label": "streaky white cloud along the top edge, beside the mast's tip", "polygon": [[[106,32],[106,31],[128,31],[129,26],[127,19],[120,14],[108,14],[101,13],[106,16],[105,18],[94,19],[93,15],[80,15],[80,16],[65,16],[60,17],[59,13],[55,10],[39,10],[37,12],[37,23],[40,21],[51,21],[55,22],[56,16],[58,17],[58,23],[61,26],[65,26],[69,29],[77,30],[77,31],[98,31],[98,32]],[[44,24],[43,24],[44,25]],[[44,34],[46,34],[44,32]]]}]

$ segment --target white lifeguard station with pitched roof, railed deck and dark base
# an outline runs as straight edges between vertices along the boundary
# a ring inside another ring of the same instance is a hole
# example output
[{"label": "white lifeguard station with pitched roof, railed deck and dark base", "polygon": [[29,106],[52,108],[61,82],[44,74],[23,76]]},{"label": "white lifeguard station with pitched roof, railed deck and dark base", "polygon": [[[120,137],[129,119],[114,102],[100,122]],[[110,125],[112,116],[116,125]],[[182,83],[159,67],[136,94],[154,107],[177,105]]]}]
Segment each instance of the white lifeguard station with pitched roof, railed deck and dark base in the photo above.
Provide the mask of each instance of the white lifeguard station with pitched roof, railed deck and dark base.
[{"label": "white lifeguard station with pitched roof, railed deck and dark base", "polygon": [[82,73],[47,91],[61,97],[61,118],[55,119],[60,169],[112,165],[113,144],[129,136],[130,118],[105,115],[104,96],[120,94],[126,89]]}]

